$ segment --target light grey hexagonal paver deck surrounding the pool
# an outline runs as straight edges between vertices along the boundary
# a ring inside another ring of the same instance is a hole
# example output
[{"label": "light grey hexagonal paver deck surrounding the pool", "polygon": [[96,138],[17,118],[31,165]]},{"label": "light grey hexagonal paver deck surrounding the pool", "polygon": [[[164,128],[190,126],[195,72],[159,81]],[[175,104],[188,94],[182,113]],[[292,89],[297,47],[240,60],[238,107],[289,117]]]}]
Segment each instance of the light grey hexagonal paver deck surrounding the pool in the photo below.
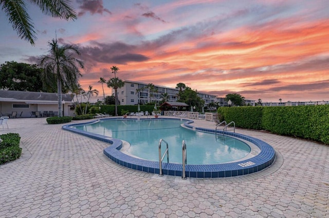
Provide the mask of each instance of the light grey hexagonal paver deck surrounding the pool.
[{"label": "light grey hexagonal paver deck surrounding the pool", "polygon": [[0,217],[329,217],[329,146],[237,130],[275,148],[275,163],[246,176],[182,180],[119,166],[103,155],[108,144],[45,118],[8,125],[0,134],[19,133],[23,156],[0,165]]}]

